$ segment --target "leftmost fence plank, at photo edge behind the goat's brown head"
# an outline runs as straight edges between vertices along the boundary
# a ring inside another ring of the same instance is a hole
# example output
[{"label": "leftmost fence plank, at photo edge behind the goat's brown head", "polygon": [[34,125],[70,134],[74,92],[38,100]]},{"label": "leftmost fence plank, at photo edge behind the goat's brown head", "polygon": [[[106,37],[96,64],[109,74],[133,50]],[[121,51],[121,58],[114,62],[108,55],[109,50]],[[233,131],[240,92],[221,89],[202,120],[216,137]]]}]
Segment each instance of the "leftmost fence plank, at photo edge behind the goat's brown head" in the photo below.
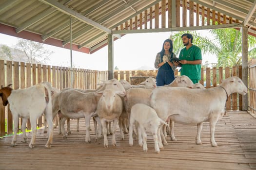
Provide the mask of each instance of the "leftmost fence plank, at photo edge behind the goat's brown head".
[{"label": "leftmost fence plank, at photo edge behind the goat's brown head", "polygon": [[[0,85],[5,86],[4,61],[0,60]],[[5,136],[5,107],[0,100],[0,136]]]}]

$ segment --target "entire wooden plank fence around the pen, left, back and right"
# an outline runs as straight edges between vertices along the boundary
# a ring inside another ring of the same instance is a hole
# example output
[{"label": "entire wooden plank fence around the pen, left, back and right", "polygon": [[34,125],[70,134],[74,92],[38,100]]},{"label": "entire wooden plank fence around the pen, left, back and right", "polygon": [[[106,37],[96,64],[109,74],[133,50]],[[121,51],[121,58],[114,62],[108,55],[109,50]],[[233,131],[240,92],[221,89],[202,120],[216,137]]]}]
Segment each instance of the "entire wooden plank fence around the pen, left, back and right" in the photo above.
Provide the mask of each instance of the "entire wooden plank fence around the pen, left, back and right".
[{"label": "entire wooden plank fence around the pen, left, back and right", "polygon": [[[206,88],[216,87],[219,82],[230,76],[241,77],[241,70],[241,66],[233,68],[202,68],[201,77],[204,77],[204,79],[202,79],[200,83],[202,85],[205,84]],[[73,73],[73,88],[96,89],[97,84],[100,83],[101,80],[108,79],[108,71],[97,71],[78,68],[73,68],[73,71],[71,71],[70,68],[66,67],[0,60],[0,85],[6,86],[12,84],[13,89],[18,89],[26,88],[37,83],[48,81],[51,82],[53,87],[59,88],[61,90],[66,87],[71,87],[71,72]],[[138,70],[114,71],[114,77],[118,80],[124,79],[130,82],[130,78],[135,76],[137,72]],[[156,74],[157,70],[147,70],[147,72],[155,72]],[[254,97],[252,98],[252,103],[254,102],[254,105],[251,104],[250,106],[254,108],[252,109],[252,111],[255,111],[255,67],[250,71],[250,73],[252,74],[252,80],[250,80],[250,91],[254,92],[252,93],[254,94]],[[178,70],[175,71],[175,75],[179,75]],[[250,96],[252,95],[250,94]],[[236,93],[229,96],[226,103],[226,109],[241,110],[242,97],[240,95],[237,95]],[[22,119],[20,119],[20,125],[21,121]],[[43,126],[42,122],[42,118],[39,118],[38,127]],[[31,129],[29,121],[27,124],[27,129]],[[4,107],[2,105],[2,101],[0,100],[0,136],[11,134],[13,134],[13,117],[9,108]]]}]

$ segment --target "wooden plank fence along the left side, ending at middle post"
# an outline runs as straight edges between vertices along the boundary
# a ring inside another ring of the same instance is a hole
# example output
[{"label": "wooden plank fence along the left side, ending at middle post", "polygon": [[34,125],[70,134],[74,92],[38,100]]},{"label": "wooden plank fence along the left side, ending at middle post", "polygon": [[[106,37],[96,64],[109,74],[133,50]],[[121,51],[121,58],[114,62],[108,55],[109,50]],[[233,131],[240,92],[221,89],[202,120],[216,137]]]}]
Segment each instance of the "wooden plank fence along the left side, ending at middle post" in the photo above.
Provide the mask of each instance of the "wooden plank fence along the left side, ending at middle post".
[{"label": "wooden plank fence along the left side, ending at middle post", "polygon": [[[73,84],[71,86],[71,72]],[[47,66],[0,60],[0,85],[12,84],[13,89],[26,88],[41,82],[51,82],[53,87],[60,90],[66,87],[79,89],[96,89],[101,80],[108,80],[108,71]],[[20,119],[20,126],[21,126]],[[29,122],[29,121],[28,121]],[[38,127],[42,127],[43,120],[39,118]],[[27,124],[30,130],[30,123]],[[13,117],[8,107],[0,100],[0,136],[13,134]]]}]

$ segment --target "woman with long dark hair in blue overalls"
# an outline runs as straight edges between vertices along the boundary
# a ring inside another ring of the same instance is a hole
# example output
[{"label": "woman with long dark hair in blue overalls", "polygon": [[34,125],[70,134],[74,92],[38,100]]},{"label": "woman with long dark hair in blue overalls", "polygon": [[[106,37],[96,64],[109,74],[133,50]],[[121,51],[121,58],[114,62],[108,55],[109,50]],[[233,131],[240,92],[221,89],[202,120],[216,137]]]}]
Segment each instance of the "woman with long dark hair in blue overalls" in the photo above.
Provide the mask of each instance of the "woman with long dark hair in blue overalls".
[{"label": "woman with long dark hair in blue overalls", "polygon": [[173,58],[177,58],[176,54],[173,53],[173,41],[166,39],[163,42],[162,50],[157,53],[155,60],[155,68],[158,68],[157,86],[169,85],[174,81],[174,71],[177,68],[178,62],[175,62]]}]

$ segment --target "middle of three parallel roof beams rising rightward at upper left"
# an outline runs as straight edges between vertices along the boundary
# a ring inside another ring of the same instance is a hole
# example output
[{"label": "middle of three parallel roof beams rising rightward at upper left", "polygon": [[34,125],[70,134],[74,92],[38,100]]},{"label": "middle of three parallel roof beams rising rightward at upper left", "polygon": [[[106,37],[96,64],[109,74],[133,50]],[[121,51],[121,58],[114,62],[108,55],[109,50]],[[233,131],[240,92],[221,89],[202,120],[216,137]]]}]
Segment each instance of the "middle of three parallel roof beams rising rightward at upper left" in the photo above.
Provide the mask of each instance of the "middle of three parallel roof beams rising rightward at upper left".
[{"label": "middle of three parallel roof beams rising rightward at upper left", "polygon": [[[108,1],[110,1],[110,0],[103,0],[102,2],[98,3],[97,5],[94,5],[92,8],[90,8],[90,9],[84,11],[84,12],[82,13],[82,15],[83,15],[83,16],[86,16],[86,15],[90,14],[91,12],[93,12],[93,11],[96,10],[96,9],[98,9],[99,7],[101,7],[102,5],[104,5],[105,3],[107,3]],[[73,20],[73,21],[72,21],[72,24],[75,23],[75,22],[77,22],[77,21],[79,21],[79,19],[77,19],[77,18],[74,18],[74,19],[72,19],[72,20]],[[61,30],[63,30],[63,29],[65,29],[66,27],[68,27],[69,24],[70,24],[70,22],[67,21],[65,24],[62,24],[59,28],[53,30],[52,32],[50,32],[50,33],[48,33],[48,34],[45,34],[45,35],[42,35],[42,40],[44,41],[44,40],[46,40],[47,38],[51,37],[52,35],[59,33]]]}]

